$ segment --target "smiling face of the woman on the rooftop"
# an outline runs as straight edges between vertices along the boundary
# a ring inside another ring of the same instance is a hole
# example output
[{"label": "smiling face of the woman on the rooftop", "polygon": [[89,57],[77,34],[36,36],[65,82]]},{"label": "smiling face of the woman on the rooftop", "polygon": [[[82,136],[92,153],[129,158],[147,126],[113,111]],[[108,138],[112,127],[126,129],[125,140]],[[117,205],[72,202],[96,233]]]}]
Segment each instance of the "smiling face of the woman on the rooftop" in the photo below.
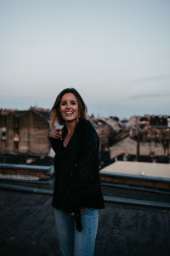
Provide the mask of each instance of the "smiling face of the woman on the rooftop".
[{"label": "smiling face of the woman on the rooftop", "polygon": [[71,92],[65,93],[65,95],[61,98],[59,111],[62,119],[64,119],[65,122],[76,120],[78,118],[77,97]]}]

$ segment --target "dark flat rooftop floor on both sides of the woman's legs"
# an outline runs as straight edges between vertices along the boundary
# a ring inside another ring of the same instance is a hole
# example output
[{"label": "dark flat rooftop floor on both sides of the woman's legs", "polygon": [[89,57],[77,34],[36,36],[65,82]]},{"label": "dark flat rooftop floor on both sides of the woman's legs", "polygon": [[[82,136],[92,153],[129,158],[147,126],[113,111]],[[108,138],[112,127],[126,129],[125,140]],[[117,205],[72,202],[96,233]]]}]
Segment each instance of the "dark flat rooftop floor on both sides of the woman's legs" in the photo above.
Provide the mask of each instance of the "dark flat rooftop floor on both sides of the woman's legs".
[{"label": "dark flat rooftop floor on both sides of the woman's legs", "polygon": [[[51,195],[0,189],[0,198],[1,256],[59,256]],[[167,256],[169,241],[170,209],[105,203],[94,256]]]}]

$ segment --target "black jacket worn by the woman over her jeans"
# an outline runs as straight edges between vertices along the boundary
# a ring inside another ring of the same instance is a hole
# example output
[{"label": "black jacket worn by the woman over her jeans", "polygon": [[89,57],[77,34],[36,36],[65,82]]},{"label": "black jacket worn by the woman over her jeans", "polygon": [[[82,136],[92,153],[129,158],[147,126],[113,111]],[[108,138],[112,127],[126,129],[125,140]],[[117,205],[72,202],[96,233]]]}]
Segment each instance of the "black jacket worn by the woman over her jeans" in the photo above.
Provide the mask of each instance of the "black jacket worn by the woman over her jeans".
[{"label": "black jacket worn by the woman over her jeans", "polygon": [[104,208],[99,180],[99,137],[94,125],[80,118],[67,147],[63,139],[48,137],[54,149],[54,195],[52,206],[65,212],[80,207]]}]

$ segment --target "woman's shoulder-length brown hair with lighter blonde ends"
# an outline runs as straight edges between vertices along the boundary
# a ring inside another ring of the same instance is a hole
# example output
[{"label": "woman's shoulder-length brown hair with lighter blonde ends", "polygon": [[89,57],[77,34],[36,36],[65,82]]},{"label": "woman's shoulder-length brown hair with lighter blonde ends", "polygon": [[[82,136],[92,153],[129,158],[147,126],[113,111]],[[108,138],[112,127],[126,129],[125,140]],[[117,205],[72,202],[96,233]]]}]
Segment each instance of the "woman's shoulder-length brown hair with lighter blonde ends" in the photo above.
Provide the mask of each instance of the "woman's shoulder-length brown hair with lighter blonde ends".
[{"label": "woman's shoulder-length brown hair with lighter blonde ends", "polygon": [[54,102],[54,106],[51,110],[51,120],[50,120],[50,126],[51,129],[54,129],[54,123],[57,122],[60,125],[65,125],[65,120],[61,117],[61,114],[59,112],[59,105],[61,102],[62,96],[65,95],[65,93],[72,93],[77,98],[78,102],[78,119],[80,117],[88,119],[88,108],[84,101],[82,100],[82,96],[78,93],[78,91],[74,88],[66,88],[65,90],[62,90],[59,95],[56,97],[56,100]]}]

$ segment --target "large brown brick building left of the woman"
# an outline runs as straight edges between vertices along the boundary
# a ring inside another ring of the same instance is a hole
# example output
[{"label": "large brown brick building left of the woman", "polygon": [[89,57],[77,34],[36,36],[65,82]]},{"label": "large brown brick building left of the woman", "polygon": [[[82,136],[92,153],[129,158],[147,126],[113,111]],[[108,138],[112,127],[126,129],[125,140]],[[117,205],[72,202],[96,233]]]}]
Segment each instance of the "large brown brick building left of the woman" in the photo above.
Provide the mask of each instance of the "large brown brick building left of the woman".
[{"label": "large brown brick building left of the woman", "polygon": [[49,111],[0,110],[0,153],[48,154]]}]

